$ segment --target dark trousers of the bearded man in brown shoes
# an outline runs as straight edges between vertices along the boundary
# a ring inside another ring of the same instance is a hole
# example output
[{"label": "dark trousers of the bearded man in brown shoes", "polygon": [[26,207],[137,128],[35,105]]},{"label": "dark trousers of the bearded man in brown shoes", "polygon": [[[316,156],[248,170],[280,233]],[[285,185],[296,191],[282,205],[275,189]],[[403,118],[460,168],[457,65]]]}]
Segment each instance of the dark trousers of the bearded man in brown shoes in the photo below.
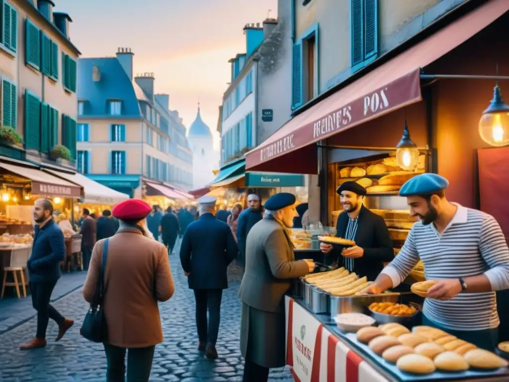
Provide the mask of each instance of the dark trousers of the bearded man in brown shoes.
[{"label": "dark trousers of the bearded man in brown shoes", "polygon": [[46,329],[50,318],[59,325],[65,321],[64,316],[49,304],[51,292],[53,292],[55,285],[56,281],[52,283],[30,283],[32,306],[37,311],[36,337],[40,339],[46,338]]}]

